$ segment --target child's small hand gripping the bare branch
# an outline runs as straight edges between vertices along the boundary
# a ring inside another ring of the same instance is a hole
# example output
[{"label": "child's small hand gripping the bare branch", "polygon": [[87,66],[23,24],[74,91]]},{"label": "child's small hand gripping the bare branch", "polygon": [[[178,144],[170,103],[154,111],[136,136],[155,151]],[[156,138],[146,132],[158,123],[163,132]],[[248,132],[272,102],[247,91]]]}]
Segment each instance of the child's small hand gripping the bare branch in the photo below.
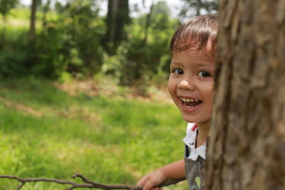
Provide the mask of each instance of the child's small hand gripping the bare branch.
[{"label": "child's small hand gripping the bare branch", "polygon": [[159,190],[160,187],[155,187],[162,182],[166,181],[165,174],[163,174],[161,169],[157,169],[155,171],[152,171],[150,174],[147,174],[138,181],[137,186],[143,186],[142,190]]}]

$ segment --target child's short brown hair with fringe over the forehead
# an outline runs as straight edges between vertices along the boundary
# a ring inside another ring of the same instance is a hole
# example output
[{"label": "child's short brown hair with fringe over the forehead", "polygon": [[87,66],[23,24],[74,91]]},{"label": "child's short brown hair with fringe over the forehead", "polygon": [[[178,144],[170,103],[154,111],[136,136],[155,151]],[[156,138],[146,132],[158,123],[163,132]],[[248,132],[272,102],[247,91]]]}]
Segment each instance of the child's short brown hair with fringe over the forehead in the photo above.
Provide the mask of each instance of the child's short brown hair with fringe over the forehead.
[{"label": "child's short brown hair with fringe over the forehead", "polygon": [[196,51],[203,50],[214,56],[217,29],[217,14],[196,16],[183,23],[175,31],[170,41],[170,49],[172,53],[177,53],[188,48],[195,48]]}]

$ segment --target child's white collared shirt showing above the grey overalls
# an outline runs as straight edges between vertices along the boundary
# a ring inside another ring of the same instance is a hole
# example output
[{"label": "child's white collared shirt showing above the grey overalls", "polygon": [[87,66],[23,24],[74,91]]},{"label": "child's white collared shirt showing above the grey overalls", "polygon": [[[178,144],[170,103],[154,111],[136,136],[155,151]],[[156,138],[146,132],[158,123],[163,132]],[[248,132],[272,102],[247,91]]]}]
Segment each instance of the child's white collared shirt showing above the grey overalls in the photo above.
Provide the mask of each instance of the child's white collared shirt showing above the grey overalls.
[{"label": "child's white collared shirt showing above the grey overalls", "polygon": [[194,161],[196,161],[199,156],[202,157],[203,159],[206,159],[206,143],[195,148],[196,139],[197,139],[197,130],[198,130],[198,125],[189,122],[187,125],[186,137],[183,139],[183,142],[190,149],[190,155],[188,156],[188,158]]}]

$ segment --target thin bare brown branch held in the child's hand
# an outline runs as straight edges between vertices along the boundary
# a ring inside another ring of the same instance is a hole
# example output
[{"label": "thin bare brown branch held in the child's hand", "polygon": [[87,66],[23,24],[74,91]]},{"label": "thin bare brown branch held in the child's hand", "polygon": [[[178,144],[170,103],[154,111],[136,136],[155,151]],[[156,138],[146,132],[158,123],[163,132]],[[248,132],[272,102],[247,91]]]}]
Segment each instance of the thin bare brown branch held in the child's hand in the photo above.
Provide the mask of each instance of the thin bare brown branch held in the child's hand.
[{"label": "thin bare brown branch held in the child's hand", "polygon": [[[66,190],[71,190],[71,189],[76,189],[76,188],[90,188],[90,189],[104,189],[104,190],[110,190],[110,189],[141,190],[142,189],[142,186],[130,186],[130,185],[120,185],[120,184],[119,185],[99,184],[95,181],[90,181],[89,179],[87,179],[85,176],[81,174],[73,174],[71,177],[73,179],[75,179],[76,177],[79,177],[85,182],[85,184],[77,184],[73,181],[67,181],[67,180],[61,180],[61,179],[21,178],[18,176],[0,175],[0,178],[15,179],[17,181],[20,181],[21,184],[16,188],[16,190],[21,189],[26,184],[26,182],[39,182],[39,181],[71,185]],[[164,183],[158,185],[157,187],[169,186],[171,184],[176,184],[182,180],[185,180],[185,179],[172,179],[170,181],[165,181]]]}]

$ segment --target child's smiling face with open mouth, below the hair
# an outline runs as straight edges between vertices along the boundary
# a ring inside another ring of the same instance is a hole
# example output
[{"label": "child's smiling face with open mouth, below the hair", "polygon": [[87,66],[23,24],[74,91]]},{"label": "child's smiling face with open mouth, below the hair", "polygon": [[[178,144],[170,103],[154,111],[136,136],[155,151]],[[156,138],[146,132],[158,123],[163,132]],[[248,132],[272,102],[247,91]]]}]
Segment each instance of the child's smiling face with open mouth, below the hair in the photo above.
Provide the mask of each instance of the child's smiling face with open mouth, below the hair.
[{"label": "child's smiling face with open mouth, below the hair", "polygon": [[168,91],[187,122],[208,123],[212,112],[214,58],[204,51],[172,54]]}]

